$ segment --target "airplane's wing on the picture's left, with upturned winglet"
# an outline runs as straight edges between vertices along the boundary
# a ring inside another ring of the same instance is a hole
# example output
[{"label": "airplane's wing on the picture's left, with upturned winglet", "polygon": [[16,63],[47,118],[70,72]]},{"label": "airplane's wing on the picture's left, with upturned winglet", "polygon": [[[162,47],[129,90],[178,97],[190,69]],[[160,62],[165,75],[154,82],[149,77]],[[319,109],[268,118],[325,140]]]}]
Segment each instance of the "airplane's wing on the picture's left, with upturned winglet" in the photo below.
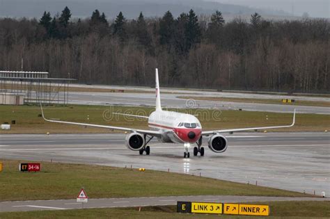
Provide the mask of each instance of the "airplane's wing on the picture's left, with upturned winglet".
[{"label": "airplane's wing on the picture's left, with upturned winglet", "polygon": [[150,136],[155,136],[155,137],[161,136],[161,133],[159,131],[152,131],[152,130],[131,129],[131,128],[125,128],[125,127],[113,127],[113,126],[102,125],[102,124],[88,124],[88,123],[80,123],[80,122],[65,122],[65,121],[61,121],[61,120],[48,120],[48,119],[45,118],[44,111],[42,110],[41,104],[40,104],[40,108],[41,108],[42,118],[47,122],[57,122],[57,123],[63,123],[63,124],[77,124],[77,125],[82,125],[82,126],[86,126],[86,127],[96,127],[96,128],[104,128],[104,129],[116,129],[116,130],[121,130],[121,131],[130,131],[130,132],[148,134]]}]

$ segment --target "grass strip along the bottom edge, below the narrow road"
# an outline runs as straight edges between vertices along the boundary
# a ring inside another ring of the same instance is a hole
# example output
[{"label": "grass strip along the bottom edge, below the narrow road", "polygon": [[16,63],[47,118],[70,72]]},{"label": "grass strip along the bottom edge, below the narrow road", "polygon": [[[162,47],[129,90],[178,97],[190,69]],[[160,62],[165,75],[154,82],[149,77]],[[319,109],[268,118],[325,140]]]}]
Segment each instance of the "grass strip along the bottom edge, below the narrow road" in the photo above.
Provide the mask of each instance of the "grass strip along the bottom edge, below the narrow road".
[{"label": "grass strip along the bottom edge, below the narrow road", "polygon": [[176,206],[0,213],[0,218],[329,218],[329,202],[267,202],[269,217],[176,213]]}]

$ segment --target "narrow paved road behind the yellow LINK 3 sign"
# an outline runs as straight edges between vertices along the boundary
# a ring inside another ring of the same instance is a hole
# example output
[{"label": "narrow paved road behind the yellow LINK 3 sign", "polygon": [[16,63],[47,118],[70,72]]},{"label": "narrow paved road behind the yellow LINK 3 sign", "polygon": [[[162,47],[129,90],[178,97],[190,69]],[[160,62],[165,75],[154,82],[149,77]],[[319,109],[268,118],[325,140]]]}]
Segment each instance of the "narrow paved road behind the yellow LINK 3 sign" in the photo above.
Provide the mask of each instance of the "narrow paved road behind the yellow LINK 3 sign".
[{"label": "narrow paved road behind the yellow LINK 3 sign", "polygon": [[[261,196],[229,196],[229,195],[198,195],[168,197],[123,197],[89,199],[84,208],[115,208],[134,206],[175,205],[178,201],[185,202],[269,202],[269,201],[330,201],[330,198],[317,197],[261,197]],[[77,200],[37,200],[0,202],[0,211],[36,211],[81,209]]]}]

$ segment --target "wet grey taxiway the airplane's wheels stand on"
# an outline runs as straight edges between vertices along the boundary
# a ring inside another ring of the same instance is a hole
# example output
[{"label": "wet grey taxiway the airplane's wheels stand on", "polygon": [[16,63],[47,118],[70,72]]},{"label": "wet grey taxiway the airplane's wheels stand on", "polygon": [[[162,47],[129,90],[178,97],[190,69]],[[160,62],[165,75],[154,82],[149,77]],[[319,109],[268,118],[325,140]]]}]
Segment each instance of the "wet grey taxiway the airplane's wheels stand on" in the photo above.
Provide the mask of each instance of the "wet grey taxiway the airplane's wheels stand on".
[{"label": "wet grey taxiway the airplane's wheels stand on", "polygon": [[[183,146],[150,143],[150,156],[123,134],[0,135],[0,159],[91,163],[201,175],[320,195],[330,194],[330,133],[234,133],[228,149],[183,159]],[[192,149],[191,149],[192,150]],[[192,154],[192,153],[191,153]]]}]

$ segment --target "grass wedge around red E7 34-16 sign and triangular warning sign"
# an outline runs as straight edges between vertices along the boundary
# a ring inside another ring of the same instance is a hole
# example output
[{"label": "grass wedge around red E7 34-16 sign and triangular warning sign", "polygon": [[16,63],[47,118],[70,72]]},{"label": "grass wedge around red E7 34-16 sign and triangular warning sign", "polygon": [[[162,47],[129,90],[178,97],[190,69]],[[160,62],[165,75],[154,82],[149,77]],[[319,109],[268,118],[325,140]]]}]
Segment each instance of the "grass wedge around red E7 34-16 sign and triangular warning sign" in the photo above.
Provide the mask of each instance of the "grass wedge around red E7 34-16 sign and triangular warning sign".
[{"label": "grass wedge around red E7 34-16 sign and triangular warning sign", "polygon": [[146,172],[140,172],[130,168],[42,162],[42,171],[35,173],[19,172],[18,165],[19,161],[3,161],[3,172],[0,172],[0,201],[74,199],[82,187],[90,198],[171,195],[313,196],[199,176],[153,171],[148,170],[148,166]]}]

